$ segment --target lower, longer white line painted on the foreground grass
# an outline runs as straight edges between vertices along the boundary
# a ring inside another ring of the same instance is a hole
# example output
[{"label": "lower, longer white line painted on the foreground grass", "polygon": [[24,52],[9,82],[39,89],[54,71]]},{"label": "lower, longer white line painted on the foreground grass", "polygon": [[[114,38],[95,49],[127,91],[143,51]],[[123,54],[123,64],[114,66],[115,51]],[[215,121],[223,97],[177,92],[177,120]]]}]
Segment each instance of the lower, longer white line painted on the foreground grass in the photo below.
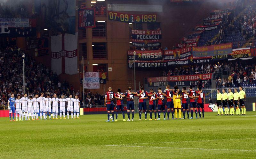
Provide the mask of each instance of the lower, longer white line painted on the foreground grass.
[{"label": "lower, longer white line painted on the foreground grass", "polygon": [[[170,147],[156,147],[156,146],[128,146],[128,145],[106,145],[113,147],[132,147],[132,148],[170,148]],[[256,152],[256,150],[239,150],[239,149],[215,149],[215,148],[171,148],[171,149],[193,149],[193,150],[226,150],[226,151],[247,151],[247,152]]]}]

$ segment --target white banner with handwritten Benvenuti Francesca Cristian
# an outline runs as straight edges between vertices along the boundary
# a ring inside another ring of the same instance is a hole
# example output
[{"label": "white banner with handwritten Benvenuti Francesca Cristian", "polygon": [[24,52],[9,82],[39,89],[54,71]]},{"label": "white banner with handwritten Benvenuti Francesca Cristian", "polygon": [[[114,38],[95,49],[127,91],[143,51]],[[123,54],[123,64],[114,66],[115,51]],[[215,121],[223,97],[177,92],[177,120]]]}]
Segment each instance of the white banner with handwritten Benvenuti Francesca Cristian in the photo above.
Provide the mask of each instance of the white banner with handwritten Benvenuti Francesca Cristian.
[{"label": "white banner with handwritten Benvenuti Francesca Cristian", "polygon": [[100,73],[86,72],[84,75],[85,89],[99,89],[100,88]]}]

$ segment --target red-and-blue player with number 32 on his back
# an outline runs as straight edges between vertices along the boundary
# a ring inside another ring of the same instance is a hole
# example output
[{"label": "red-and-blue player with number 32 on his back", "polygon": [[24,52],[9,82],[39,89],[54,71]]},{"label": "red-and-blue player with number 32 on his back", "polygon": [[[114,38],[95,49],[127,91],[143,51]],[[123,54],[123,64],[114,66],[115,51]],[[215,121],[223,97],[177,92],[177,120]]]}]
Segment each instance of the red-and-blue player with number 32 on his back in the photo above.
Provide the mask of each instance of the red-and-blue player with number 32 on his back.
[{"label": "red-and-blue player with number 32 on his back", "polygon": [[145,120],[147,120],[147,104],[146,99],[148,98],[148,92],[143,90],[143,86],[140,86],[140,90],[137,92],[137,97],[139,97],[139,116],[141,120],[141,111],[145,113]]}]

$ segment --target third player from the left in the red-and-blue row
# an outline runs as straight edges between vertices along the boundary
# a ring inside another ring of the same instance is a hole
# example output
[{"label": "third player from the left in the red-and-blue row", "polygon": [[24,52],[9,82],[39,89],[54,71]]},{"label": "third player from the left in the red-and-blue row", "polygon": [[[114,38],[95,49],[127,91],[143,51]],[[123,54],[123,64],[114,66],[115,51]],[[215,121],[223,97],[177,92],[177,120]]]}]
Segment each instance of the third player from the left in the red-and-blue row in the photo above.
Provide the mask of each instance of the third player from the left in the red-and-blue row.
[{"label": "third player from the left in the red-and-blue row", "polygon": [[128,116],[128,120],[127,121],[131,121],[130,120],[130,109],[132,110],[132,121],[133,121],[133,118],[134,118],[134,96],[136,95],[137,93],[135,92],[132,92],[132,87],[128,87],[128,92],[126,92],[124,95],[125,95],[125,98],[127,98],[127,116]]}]

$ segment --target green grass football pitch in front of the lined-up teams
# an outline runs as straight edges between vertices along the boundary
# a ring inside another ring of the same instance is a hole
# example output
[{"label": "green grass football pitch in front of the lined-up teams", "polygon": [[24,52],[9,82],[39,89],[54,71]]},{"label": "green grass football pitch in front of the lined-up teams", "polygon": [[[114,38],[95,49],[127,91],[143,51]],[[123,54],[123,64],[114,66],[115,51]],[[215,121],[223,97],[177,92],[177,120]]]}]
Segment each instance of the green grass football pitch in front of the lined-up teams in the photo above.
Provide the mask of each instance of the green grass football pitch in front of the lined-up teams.
[{"label": "green grass football pitch in front of the lined-up teams", "polygon": [[105,122],[107,114],[79,117],[15,122],[0,118],[1,158],[256,156],[256,112],[246,116],[205,112],[205,119],[157,121],[138,121],[135,114],[134,121],[125,122],[122,114],[118,122]]}]

